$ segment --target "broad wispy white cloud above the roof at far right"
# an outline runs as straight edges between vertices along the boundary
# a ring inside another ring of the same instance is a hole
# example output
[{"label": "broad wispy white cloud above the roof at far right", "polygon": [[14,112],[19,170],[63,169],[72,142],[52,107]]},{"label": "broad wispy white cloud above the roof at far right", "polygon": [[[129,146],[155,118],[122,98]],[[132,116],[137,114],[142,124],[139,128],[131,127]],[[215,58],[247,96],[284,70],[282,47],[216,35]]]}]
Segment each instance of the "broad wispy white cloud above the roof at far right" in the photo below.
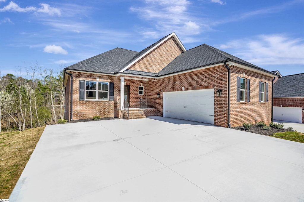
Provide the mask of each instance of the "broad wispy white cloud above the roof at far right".
[{"label": "broad wispy white cloud above the roof at far right", "polygon": [[304,64],[304,39],[280,34],[233,40],[218,47],[256,65]]}]

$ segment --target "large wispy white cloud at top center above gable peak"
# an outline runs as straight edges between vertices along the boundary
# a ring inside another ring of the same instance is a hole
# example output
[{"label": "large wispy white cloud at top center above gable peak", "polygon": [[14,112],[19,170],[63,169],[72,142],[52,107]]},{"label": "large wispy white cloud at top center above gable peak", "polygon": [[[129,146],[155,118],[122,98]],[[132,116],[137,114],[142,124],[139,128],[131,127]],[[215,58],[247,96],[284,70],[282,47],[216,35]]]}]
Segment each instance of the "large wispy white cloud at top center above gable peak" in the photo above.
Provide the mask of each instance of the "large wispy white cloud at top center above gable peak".
[{"label": "large wispy white cloud at top center above gable peak", "polygon": [[159,38],[171,32],[177,32],[183,38],[197,35],[206,29],[211,30],[208,25],[200,22],[201,19],[195,18],[191,12],[188,12],[190,1],[145,0],[145,3],[143,7],[130,8],[130,11],[137,13],[140,18],[154,26],[153,29],[140,27],[139,32],[144,38]]}]

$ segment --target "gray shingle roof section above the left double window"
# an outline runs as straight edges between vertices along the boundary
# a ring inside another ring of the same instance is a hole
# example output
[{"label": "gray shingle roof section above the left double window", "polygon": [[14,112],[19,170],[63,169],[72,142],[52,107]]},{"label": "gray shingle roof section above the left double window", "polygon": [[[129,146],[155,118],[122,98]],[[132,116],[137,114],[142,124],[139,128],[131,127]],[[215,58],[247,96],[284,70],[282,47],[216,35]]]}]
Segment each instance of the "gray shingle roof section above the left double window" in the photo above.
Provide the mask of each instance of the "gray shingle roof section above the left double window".
[{"label": "gray shingle roof section above the left double window", "polygon": [[126,64],[138,52],[122,48],[115,48],[89,59],[85,59],[65,69],[86,72],[113,73]]}]

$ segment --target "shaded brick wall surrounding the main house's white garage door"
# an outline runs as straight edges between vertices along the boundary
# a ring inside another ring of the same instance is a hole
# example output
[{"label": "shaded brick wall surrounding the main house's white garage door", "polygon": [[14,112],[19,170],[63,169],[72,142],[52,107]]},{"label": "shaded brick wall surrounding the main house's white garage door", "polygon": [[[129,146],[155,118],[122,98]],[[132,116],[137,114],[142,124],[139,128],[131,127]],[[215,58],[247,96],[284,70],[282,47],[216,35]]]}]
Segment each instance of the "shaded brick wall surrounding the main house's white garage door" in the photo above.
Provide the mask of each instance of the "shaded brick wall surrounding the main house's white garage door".
[{"label": "shaded brick wall surrounding the main house's white garage door", "polygon": [[[148,99],[156,99],[157,115],[163,115],[163,92],[212,89],[214,88],[214,125],[227,127],[227,70],[221,66],[200,69],[192,72],[168,76],[157,81],[148,81]],[[216,96],[216,91],[222,89],[222,96]]]}]

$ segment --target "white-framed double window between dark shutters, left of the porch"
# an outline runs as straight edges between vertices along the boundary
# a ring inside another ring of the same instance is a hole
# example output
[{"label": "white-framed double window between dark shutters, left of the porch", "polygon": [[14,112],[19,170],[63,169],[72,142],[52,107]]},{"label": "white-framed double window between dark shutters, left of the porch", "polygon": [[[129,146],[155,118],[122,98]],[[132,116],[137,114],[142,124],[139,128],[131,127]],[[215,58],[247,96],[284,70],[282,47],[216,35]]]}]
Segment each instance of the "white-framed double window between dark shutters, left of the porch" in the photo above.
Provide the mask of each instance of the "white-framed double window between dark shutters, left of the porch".
[{"label": "white-framed double window between dark shutters, left of the porch", "polygon": [[109,82],[85,81],[86,100],[109,100]]}]

